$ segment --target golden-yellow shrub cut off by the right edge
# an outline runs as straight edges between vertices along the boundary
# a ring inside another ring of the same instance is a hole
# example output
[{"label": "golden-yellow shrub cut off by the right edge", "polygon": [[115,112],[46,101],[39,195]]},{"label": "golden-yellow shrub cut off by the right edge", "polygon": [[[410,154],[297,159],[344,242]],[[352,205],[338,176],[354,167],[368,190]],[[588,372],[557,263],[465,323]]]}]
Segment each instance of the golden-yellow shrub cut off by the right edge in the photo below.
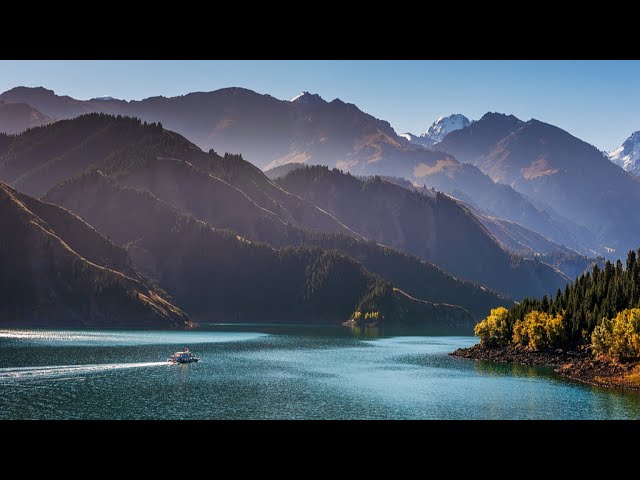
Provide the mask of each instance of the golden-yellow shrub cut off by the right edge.
[{"label": "golden-yellow shrub cut off by the right edge", "polygon": [[596,356],[614,361],[640,359],[640,308],[602,319],[591,334],[591,348]]}]

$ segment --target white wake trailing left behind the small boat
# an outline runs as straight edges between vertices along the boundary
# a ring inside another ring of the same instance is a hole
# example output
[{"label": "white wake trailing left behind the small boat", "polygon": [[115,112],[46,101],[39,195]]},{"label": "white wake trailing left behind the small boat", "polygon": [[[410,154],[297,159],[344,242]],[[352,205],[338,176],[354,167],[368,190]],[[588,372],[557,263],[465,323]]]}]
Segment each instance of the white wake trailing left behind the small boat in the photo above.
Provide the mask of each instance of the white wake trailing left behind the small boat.
[{"label": "white wake trailing left behind the small boat", "polygon": [[34,380],[67,377],[87,373],[100,373],[127,368],[156,367],[170,365],[167,362],[104,363],[93,365],[50,365],[42,367],[0,368],[0,382],[9,380]]}]

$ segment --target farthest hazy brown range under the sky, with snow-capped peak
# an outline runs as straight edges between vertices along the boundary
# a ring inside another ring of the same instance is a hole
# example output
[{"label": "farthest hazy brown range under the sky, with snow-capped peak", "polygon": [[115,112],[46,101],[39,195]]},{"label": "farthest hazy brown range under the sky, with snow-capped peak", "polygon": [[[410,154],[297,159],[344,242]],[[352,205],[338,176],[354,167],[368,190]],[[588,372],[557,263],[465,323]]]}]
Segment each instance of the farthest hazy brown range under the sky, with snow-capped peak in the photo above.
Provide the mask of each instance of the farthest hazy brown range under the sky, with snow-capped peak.
[{"label": "farthest hazy brown range under the sky, with snow-capped peak", "polygon": [[[130,102],[81,101],[43,88],[18,87],[0,94],[0,100],[28,103],[52,118],[72,118],[94,111],[161,122],[205,151],[213,148],[240,152],[265,169],[306,163],[360,175],[404,177],[471,202],[488,214],[520,223],[580,254],[606,255],[615,248],[609,245],[609,237],[603,239],[590,232],[588,225],[571,221],[570,214],[555,211],[556,205],[535,204],[536,198],[523,196],[509,185],[496,183],[487,172],[459,162],[466,162],[467,157],[442,153],[446,148],[429,150],[414,145],[397,135],[388,122],[339,99],[327,102],[318,95],[304,93],[292,101],[283,101],[246,89],[227,88]],[[467,120],[453,115],[439,119],[429,131],[440,138],[445,133],[454,135],[471,128],[480,131],[490,123],[491,135],[497,142],[513,126],[513,121],[503,125],[505,122],[493,114],[485,117],[482,122],[455,130]]]}]

